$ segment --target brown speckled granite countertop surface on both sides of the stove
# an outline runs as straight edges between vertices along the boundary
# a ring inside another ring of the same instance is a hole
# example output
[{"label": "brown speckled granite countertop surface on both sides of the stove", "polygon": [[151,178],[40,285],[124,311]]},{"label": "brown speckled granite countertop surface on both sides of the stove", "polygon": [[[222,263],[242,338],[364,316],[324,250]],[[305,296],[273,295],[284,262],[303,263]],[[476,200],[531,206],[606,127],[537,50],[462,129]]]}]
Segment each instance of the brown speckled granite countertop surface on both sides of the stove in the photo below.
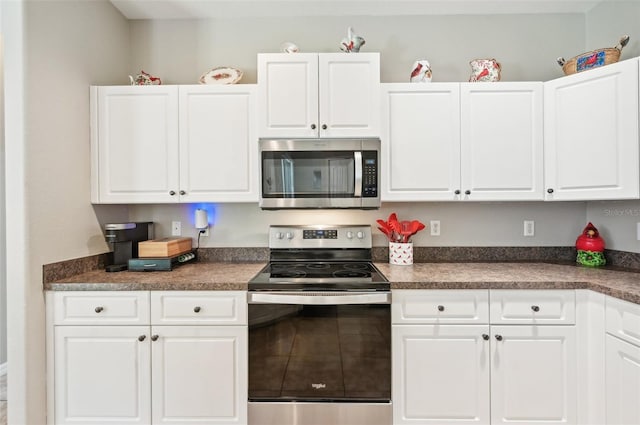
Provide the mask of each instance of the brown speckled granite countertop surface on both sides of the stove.
[{"label": "brown speckled granite countertop surface on both sides of the stove", "polygon": [[[640,304],[640,273],[550,263],[376,263],[391,289],[591,289]],[[94,270],[45,283],[53,291],[246,290],[264,263],[202,262],[170,272]]]}]

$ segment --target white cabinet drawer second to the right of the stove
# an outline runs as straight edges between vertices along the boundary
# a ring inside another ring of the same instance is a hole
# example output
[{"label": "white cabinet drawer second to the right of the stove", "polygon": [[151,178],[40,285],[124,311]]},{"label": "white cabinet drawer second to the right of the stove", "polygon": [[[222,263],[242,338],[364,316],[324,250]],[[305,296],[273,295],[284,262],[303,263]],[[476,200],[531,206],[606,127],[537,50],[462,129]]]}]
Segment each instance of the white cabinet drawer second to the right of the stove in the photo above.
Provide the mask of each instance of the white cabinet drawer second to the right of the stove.
[{"label": "white cabinet drawer second to the right of the stove", "polygon": [[557,289],[491,290],[491,323],[572,325],[575,291]]}]

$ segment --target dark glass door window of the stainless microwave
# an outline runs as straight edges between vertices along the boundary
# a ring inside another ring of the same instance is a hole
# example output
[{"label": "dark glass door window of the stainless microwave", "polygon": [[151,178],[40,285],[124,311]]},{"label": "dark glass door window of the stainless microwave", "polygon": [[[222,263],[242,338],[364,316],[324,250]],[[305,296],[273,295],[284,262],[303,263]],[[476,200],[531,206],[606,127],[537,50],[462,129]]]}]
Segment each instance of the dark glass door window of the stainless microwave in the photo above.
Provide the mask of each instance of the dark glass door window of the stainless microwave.
[{"label": "dark glass door window of the stainless microwave", "polygon": [[354,186],[353,152],[262,153],[263,197],[351,197]]}]

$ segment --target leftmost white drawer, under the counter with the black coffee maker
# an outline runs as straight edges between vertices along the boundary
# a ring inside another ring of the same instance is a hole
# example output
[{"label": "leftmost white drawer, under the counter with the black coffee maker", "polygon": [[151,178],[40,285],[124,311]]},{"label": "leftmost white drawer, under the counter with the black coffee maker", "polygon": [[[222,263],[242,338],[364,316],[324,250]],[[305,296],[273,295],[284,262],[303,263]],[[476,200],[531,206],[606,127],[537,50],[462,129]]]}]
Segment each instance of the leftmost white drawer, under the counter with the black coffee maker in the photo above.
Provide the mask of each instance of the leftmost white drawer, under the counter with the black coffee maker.
[{"label": "leftmost white drawer, under the counter with the black coffee maker", "polygon": [[53,294],[55,325],[148,325],[147,291],[83,291]]}]

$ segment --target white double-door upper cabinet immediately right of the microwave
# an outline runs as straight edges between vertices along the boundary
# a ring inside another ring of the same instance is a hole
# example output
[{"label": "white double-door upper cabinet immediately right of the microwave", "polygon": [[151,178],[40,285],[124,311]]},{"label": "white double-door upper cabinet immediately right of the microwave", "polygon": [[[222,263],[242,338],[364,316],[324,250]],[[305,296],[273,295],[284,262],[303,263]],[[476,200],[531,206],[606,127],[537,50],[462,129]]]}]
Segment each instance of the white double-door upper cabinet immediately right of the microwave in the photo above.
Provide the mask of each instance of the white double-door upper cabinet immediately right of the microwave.
[{"label": "white double-door upper cabinet immediately right of the microwave", "polygon": [[382,200],[542,200],[542,91],[383,84]]}]

